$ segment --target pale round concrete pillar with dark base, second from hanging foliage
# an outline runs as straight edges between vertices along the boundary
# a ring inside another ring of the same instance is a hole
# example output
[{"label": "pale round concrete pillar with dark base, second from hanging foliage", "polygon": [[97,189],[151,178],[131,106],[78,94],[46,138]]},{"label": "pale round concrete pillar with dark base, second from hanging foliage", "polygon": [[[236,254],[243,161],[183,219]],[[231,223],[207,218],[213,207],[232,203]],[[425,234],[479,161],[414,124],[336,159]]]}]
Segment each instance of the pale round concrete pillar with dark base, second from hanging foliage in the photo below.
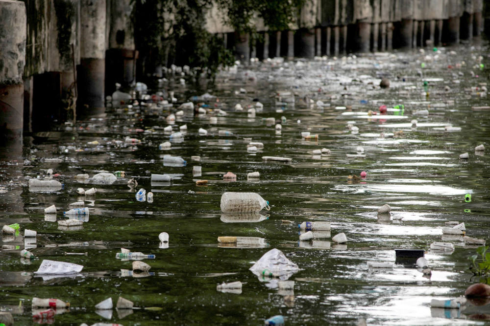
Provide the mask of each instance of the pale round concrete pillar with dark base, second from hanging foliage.
[{"label": "pale round concrete pillar with dark base, second from hanging foliage", "polygon": [[80,0],[79,114],[102,113],[104,108],[106,0]]}]

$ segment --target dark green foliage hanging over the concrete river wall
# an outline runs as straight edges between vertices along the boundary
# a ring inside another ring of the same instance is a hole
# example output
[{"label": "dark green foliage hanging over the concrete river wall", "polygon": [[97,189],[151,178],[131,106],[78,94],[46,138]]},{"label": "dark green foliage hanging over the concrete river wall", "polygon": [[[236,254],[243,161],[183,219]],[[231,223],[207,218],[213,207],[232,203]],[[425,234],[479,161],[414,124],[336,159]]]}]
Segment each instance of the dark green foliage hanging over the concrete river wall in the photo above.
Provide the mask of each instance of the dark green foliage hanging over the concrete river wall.
[{"label": "dark green foliage hanging over the concrete river wall", "polygon": [[216,3],[227,14],[223,23],[256,39],[254,18],[270,30],[287,29],[304,0],[133,0],[135,43],[140,51],[139,76],[151,76],[158,66],[206,67],[214,75],[231,65],[234,56],[223,40],[206,31],[206,12]]}]

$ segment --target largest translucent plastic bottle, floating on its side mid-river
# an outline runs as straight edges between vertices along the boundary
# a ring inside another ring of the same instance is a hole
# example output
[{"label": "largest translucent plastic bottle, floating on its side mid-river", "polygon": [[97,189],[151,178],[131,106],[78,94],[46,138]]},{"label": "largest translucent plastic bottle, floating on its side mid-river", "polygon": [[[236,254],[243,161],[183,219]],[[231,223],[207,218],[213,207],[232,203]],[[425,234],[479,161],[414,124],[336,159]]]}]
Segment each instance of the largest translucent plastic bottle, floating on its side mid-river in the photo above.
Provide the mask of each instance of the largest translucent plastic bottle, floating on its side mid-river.
[{"label": "largest translucent plastic bottle, floating on its side mid-river", "polygon": [[221,195],[223,213],[254,213],[270,210],[269,201],[256,193],[224,193]]}]

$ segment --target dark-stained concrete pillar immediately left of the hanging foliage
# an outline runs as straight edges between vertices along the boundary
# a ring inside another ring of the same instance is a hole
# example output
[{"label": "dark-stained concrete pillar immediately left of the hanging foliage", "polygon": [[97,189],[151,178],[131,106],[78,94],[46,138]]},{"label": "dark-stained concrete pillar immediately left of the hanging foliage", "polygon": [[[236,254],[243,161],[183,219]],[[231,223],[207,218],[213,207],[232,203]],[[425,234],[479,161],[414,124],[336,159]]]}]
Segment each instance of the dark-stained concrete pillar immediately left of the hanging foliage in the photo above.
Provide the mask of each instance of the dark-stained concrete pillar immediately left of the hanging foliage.
[{"label": "dark-stained concrete pillar immediately left of the hanging foliage", "polygon": [[115,83],[124,86],[135,82],[136,60],[131,0],[107,0],[108,50],[106,52],[106,92],[112,94]]}]

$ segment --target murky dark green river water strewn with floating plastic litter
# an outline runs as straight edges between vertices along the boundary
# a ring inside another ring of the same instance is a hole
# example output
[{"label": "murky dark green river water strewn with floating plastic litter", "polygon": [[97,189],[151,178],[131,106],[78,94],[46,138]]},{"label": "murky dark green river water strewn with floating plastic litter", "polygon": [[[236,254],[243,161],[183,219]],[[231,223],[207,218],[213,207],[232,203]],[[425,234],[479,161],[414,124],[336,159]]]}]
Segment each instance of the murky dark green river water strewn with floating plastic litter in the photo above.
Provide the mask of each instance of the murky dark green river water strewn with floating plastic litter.
[{"label": "murky dark green river water strewn with floating plastic litter", "polygon": [[[4,153],[1,162],[0,221],[19,223],[20,234],[1,238],[0,310],[10,311],[16,325],[263,325],[274,315],[287,325],[356,325],[359,319],[368,325],[490,325],[481,320],[490,319],[488,304],[430,306],[478,282],[468,269],[477,245],[443,235],[446,222],[464,222],[467,236],[489,238],[488,53],[487,43],[474,43],[272,59],[223,71],[210,89],[169,74],[147,93],[173,91],[172,107],[151,101],[108,106],[103,116],[26,135],[22,154]],[[379,87],[383,77],[389,88]],[[193,98],[205,92],[216,97]],[[205,103],[205,113],[183,109],[174,121],[166,119],[192,99]],[[379,114],[383,105],[386,113]],[[183,125],[183,138],[171,137]],[[164,130],[168,126],[171,131]],[[167,141],[170,148],[159,149]],[[251,142],[262,144],[247,150]],[[480,144],[485,150],[475,152]],[[468,159],[460,159],[465,152]],[[186,163],[169,163],[164,155]],[[44,178],[49,169],[63,187],[29,188],[29,177]],[[115,181],[92,178],[116,171],[124,174]],[[223,179],[227,172],[236,179]],[[260,176],[247,179],[252,172]],[[75,179],[77,174],[90,178]],[[151,180],[151,174],[172,180]],[[129,187],[130,179],[137,186]],[[207,183],[197,186],[198,180]],[[97,192],[82,196],[77,188]],[[137,196],[139,189],[146,195]],[[222,213],[225,192],[257,193],[270,210]],[[58,225],[76,201],[89,215],[70,218],[83,224]],[[378,217],[384,204],[390,215]],[[51,205],[57,214],[45,215]],[[298,225],[307,221],[330,222],[330,231],[313,230],[313,239],[300,241]],[[23,238],[25,229],[37,237]],[[162,232],[168,242],[160,242]],[[332,240],[340,233],[347,242]],[[430,249],[433,242],[454,249]],[[140,270],[133,272],[134,260],[116,258],[121,248],[154,255],[141,260],[150,269],[137,263]],[[299,270],[279,279],[252,273],[249,268],[273,248]],[[23,249],[36,258],[21,258]],[[432,273],[400,260],[396,249],[425,251]],[[43,260],[83,269],[34,273]],[[375,262],[388,267],[373,267]],[[217,290],[236,281],[241,289]],[[34,297],[71,305],[43,317],[43,309],[31,308]],[[109,297],[114,303],[123,297],[135,308],[97,310]]]}]

